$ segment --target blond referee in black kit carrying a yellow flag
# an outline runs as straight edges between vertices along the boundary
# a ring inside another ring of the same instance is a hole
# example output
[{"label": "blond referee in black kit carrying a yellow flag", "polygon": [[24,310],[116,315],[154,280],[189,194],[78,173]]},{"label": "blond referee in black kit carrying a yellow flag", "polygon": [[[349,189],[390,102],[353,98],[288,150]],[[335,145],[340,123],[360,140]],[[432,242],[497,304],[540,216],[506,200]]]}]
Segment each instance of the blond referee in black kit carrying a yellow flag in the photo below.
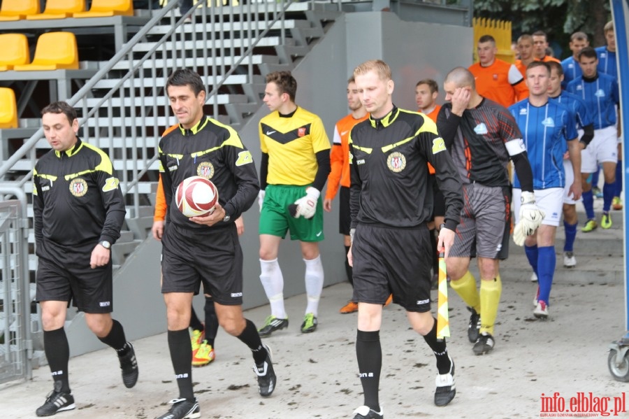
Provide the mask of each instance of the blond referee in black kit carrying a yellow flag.
[{"label": "blond referee in black kit carrying a yellow flag", "polygon": [[437,320],[431,314],[431,240],[427,223],[433,212],[428,162],[446,203],[445,225],[438,248],[447,257],[463,207],[461,181],[440,138],[426,115],[393,105],[391,69],[368,61],[354,69],[361,102],[370,118],[349,134],[350,211],[354,267],[354,299],[359,303],[356,358],[363,385],[364,405],[354,419],[381,419],[378,399],[382,349],[379,329],[382,305],[389,294],[407,311],[415,332],[437,358],[435,404],[454,398],[454,362],[445,340],[437,339]]}]

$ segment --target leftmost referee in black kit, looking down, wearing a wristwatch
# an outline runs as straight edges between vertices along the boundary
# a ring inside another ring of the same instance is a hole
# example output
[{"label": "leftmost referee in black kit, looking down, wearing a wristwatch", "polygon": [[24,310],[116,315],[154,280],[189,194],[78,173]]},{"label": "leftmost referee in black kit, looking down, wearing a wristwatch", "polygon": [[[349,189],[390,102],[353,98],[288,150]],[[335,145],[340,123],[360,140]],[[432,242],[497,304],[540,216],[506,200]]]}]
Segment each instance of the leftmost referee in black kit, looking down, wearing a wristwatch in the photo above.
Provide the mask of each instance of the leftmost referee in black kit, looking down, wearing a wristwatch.
[{"label": "leftmost referee in black kit, looking down, wearing a wristwatch", "polygon": [[41,121],[52,147],[35,164],[33,208],[38,256],[36,301],[54,388],[37,416],[75,408],[68,383],[70,350],[64,331],[68,301],[85,313],[101,342],[114,348],[126,388],[136,385],[138,364],[122,325],[111,318],[113,281],[110,248],[120,237],[126,210],[109,157],[76,135],[74,108],[55,102]]}]

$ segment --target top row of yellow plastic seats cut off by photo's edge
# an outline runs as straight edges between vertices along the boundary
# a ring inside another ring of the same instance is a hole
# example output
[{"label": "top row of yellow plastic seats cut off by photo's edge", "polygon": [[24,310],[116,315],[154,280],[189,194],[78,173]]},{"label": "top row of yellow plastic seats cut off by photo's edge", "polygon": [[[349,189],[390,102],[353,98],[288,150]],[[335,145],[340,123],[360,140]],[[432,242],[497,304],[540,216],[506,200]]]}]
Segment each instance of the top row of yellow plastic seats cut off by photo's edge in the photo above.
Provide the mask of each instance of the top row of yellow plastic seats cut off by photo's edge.
[{"label": "top row of yellow plastic seats cut off by photo's edge", "polygon": [[88,11],[85,11],[85,0],[48,0],[43,13],[40,13],[39,3],[39,0],[3,0],[0,6],[0,22],[133,16],[132,0],[92,0],[92,7]]}]

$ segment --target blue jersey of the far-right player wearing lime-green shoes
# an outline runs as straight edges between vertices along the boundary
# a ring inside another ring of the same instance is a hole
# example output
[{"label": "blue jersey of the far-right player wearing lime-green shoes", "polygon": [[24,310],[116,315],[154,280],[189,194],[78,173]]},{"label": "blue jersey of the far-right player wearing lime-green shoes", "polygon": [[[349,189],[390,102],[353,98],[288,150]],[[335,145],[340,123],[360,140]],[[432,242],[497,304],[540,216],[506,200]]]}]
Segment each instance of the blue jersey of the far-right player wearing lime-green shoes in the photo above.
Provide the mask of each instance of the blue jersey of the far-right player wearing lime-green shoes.
[{"label": "blue jersey of the far-right player wearing lime-green shoes", "polygon": [[568,83],[566,90],[583,99],[594,129],[616,125],[616,105],[620,103],[616,78],[604,73],[592,79],[581,76]]}]

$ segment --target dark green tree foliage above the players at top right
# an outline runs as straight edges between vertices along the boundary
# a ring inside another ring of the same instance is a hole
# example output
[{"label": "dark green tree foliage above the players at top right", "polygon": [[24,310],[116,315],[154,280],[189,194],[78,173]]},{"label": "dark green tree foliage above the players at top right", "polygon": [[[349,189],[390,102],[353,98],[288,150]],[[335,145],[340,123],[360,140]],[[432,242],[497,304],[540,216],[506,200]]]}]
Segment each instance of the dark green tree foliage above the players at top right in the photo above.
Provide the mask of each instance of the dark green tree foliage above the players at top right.
[{"label": "dark green tree foliage above the players at top right", "polygon": [[611,19],[606,0],[475,0],[474,17],[512,22],[514,40],[542,30],[561,57],[570,55],[570,35],[584,31],[593,46],[604,45],[603,27]]}]

